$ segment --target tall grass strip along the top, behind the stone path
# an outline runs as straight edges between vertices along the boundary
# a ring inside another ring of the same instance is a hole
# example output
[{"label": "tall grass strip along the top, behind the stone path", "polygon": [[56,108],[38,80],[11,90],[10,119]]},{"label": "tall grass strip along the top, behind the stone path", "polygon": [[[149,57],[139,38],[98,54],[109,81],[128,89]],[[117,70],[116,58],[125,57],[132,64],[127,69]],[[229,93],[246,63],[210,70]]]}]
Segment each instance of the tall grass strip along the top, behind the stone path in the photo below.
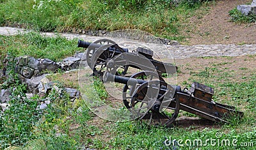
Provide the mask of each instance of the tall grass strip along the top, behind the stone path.
[{"label": "tall grass strip along the top, behind the stone path", "polygon": [[0,26],[22,26],[37,31],[72,29],[140,29],[170,40],[184,40],[180,31],[207,1],[1,1]]}]

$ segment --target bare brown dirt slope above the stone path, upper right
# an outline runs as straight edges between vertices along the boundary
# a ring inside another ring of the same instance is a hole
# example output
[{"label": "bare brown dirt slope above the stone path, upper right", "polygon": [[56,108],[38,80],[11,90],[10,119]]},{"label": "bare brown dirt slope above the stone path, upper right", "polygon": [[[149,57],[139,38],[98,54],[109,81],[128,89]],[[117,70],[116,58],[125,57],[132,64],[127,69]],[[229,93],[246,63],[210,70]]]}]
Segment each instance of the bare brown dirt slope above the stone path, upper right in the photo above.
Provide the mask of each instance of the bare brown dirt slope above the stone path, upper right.
[{"label": "bare brown dirt slope above the stone path, upper right", "polygon": [[252,0],[217,0],[210,4],[210,9],[206,15],[201,16],[202,10],[198,10],[198,15],[192,17],[188,22],[195,29],[190,33],[184,33],[190,36],[186,39],[186,44],[256,43],[254,36],[256,23],[237,24],[230,22],[230,16],[228,15],[228,11],[236,8],[237,5],[250,3],[252,3]]}]

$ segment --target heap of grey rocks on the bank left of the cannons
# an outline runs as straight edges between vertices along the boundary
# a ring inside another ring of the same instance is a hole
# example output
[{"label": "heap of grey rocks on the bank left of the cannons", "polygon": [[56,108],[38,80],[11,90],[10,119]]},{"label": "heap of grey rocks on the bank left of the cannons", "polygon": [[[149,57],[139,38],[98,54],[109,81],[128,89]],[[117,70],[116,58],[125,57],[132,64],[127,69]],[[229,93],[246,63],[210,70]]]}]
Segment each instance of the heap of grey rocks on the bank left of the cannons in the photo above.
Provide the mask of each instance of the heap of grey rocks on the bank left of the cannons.
[{"label": "heap of grey rocks on the bank left of the cannons", "polygon": [[[58,88],[55,82],[49,81],[47,79],[48,71],[56,72],[60,69],[63,71],[74,70],[79,68],[79,63],[84,56],[84,53],[78,53],[73,57],[67,57],[58,63],[50,59],[35,59],[30,56],[22,56],[15,58],[17,62],[15,65],[15,72],[18,73],[19,78],[23,84],[28,85],[30,93],[26,93],[27,98],[31,98],[33,95],[38,94],[40,97],[45,96],[49,91],[55,89],[57,93],[67,93],[70,100],[73,102],[79,98],[80,93],[76,89],[64,87],[63,89]],[[1,77],[8,75],[8,73],[3,73],[1,71]],[[6,75],[5,75],[6,74]],[[8,84],[7,81],[4,84]],[[10,96],[12,91],[10,89],[2,89],[0,93],[0,108],[2,111],[6,110],[8,107],[8,101],[10,101]],[[38,109],[45,109],[47,105],[51,103],[47,98],[41,101],[38,105]]]}]

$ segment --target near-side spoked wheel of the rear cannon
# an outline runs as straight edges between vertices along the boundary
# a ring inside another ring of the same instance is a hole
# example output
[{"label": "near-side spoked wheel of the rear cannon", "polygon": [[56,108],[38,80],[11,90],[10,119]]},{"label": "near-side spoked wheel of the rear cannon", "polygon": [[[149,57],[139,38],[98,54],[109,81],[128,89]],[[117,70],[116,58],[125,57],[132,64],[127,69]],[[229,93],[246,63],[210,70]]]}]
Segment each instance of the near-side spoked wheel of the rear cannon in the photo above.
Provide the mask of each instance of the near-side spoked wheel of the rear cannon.
[{"label": "near-side spoked wheel of the rear cannon", "polygon": [[[103,45],[102,47],[99,47],[92,56],[91,59],[91,68],[93,70],[93,74],[97,77],[102,78],[104,71],[106,71],[106,65],[108,64],[111,59],[113,59],[118,54],[122,54],[122,52],[118,51],[115,47],[113,49],[109,50],[109,47],[113,47],[112,44]],[[115,65],[115,62],[113,63]],[[118,66],[118,68],[115,68],[116,75],[125,75],[125,73],[128,70],[128,66]]]}]

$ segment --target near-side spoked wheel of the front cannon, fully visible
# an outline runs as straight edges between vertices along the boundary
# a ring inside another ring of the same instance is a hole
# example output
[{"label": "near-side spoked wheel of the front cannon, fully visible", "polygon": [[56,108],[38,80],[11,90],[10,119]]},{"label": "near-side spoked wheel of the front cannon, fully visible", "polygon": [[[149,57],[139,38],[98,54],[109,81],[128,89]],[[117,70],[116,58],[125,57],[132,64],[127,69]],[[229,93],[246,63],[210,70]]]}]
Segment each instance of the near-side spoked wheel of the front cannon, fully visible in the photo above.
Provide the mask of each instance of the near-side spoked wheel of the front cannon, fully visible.
[{"label": "near-side spoked wheel of the front cannon, fully visible", "polygon": [[[160,89],[160,90],[159,90]],[[131,98],[134,117],[148,125],[170,126],[179,114],[179,98],[175,88],[163,81],[141,84]]]}]

